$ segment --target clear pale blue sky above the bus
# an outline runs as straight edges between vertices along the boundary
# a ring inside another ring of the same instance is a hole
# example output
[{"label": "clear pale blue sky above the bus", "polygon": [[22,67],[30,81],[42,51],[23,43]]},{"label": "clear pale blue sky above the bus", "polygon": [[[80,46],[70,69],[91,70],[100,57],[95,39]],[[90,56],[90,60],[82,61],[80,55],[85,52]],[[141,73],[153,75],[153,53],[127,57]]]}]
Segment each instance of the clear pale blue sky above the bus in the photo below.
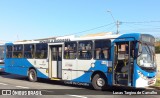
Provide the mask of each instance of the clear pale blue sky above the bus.
[{"label": "clear pale blue sky above the bus", "polygon": [[160,37],[159,4],[160,0],[0,0],[0,41],[116,33],[117,20],[120,34]]}]

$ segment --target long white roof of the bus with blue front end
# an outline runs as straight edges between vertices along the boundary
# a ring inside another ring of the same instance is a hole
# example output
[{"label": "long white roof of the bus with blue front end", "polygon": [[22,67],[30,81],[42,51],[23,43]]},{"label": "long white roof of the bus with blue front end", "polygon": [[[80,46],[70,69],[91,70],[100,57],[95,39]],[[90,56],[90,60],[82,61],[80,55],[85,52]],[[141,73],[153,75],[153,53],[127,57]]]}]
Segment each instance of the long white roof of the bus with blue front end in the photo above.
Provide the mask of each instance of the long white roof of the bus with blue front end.
[{"label": "long white roof of the bus with blue front end", "polygon": [[[41,42],[47,42],[48,40],[52,40],[51,42],[54,42],[54,40],[62,40],[62,39],[69,39],[70,41],[81,41],[81,40],[94,40],[94,39],[118,39],[118,38],[134,38],[135,40],[140,40],[141,33],[125,33],[125,34],[112,34],[111,32],[102,32],[102,33],[96,33],[96,34],[88,34],[85,36],[76,37],[75,35],[69,35],[69,36],[59,36],[59,37],[49,37],[49,38],[42,38],[42,39],[35,39],[35,40],[22,40],[22,41],[16,41],[9,44],[28,44],[28,43],[41,43]],[[149,34],[147,34],[149,35]],[[149,35],[152,36],[152,35]],[[55,43],[55,42],[54,42]]]}]

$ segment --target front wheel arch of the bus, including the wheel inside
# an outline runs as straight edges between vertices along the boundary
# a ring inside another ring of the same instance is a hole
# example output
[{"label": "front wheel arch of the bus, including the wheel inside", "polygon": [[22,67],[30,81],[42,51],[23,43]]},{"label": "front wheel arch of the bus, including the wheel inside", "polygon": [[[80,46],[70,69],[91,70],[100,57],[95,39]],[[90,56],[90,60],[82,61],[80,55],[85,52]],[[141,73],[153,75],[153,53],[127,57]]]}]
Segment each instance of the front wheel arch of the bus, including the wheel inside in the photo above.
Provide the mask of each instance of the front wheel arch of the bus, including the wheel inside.
[{"label": "front wheel arch of the bus, including the wheel inside", "polygon": [[108,79],[101,71],[95,71],[91,76],[92,87],[96,90],[107,89]]}]

